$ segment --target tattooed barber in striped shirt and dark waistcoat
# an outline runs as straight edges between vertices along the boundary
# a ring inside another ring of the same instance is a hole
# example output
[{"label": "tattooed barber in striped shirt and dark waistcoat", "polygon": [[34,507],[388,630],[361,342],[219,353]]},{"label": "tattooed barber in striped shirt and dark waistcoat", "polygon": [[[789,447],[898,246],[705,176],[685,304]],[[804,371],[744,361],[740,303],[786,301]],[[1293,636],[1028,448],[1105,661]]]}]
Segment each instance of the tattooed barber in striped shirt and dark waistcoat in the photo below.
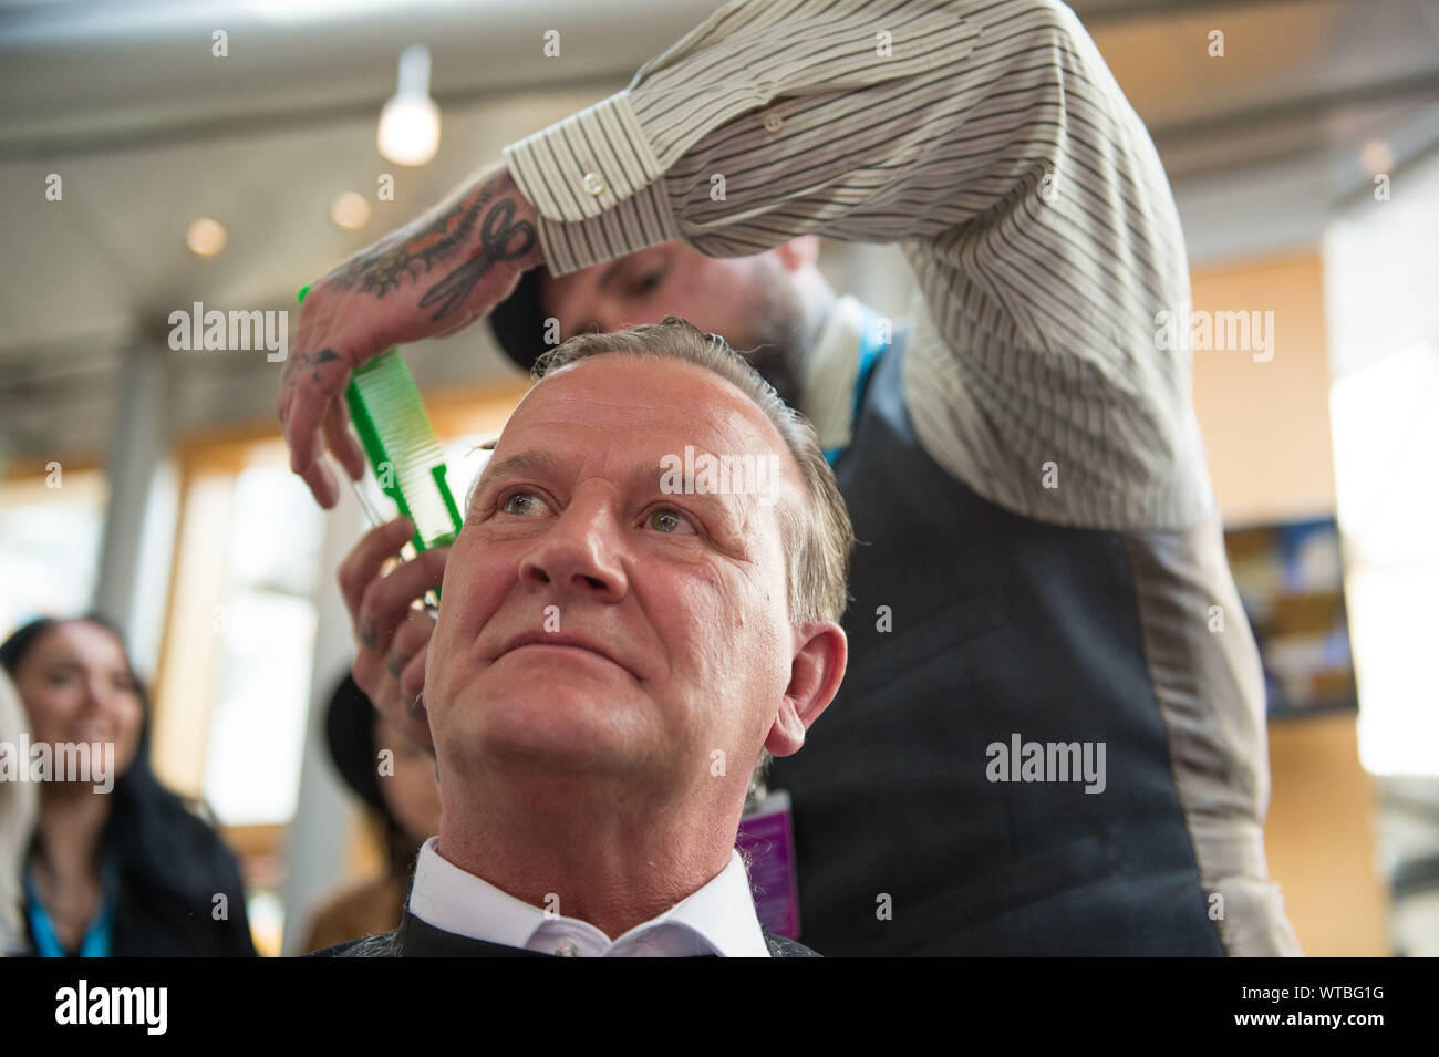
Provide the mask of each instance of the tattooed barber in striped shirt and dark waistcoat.
[{"label": "tattooed barber in striped shirt and dark waistcoat", "polygon": [[[279,397],[292,467],[332,505],[321,439],[361,470],[350,371],[501,305],[519,361],[566,326],[665,312],[754,345],[862,541],[850,676],[773,775],[804,941],[1298,953],[1190,358],[1156,339],[1190,293],[1148,134],[1063,4],[807,12],[727,6],[317,283]],[[898,243],[912,321],[833,298],[810,236]],[[401,617],[443,558],[350,598],[355,677],[401,722],[407,702],[416,736],[429,624]],[[1058,774],[1071,746],[1102,781]]]}]

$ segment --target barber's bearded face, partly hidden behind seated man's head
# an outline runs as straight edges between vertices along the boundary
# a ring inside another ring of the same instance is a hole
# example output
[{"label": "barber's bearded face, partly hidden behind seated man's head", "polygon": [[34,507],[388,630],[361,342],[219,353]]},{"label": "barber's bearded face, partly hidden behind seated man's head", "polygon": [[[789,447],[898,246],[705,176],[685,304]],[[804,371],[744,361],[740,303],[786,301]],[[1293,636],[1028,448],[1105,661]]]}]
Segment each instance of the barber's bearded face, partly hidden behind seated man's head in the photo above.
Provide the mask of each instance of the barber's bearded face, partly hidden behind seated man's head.
[{"label": "barber's bearded face, partly hidden behind seated man's head", "polygon": [[751,257],[707,257],[682,240],[553,279],[541,279],[547,316],[560,337],[658,324],[666,315],[718,334],[799,406],[804,305],[794,285],[812,266],[813,240],[794,240]]}]

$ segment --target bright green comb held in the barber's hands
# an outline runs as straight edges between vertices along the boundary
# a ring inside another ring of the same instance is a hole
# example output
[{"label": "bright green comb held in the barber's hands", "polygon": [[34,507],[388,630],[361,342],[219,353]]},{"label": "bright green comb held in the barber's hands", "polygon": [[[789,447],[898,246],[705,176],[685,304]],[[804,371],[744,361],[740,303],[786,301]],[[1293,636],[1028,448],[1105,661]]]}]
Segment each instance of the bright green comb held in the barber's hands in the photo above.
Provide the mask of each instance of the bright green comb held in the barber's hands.
[{"label": "bright green comb held in the barber's hands", "polygon": [[[309,286],[301,288],[298,299],[307,293]],[[445,477],[445,453],[399,348],[355,368],[345,404],[380,490],[414,523],[414,549],[455,542],[460,516]]]}]

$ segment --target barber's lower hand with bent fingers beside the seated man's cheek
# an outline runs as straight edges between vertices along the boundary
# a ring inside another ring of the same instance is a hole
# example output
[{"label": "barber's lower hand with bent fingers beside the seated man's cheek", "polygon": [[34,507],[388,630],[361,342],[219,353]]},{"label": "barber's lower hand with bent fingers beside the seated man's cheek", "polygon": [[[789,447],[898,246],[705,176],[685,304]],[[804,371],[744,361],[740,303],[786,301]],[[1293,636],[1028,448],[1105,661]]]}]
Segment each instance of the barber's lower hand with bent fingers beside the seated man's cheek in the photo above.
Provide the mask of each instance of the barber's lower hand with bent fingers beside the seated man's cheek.
[{"label": "barber's lower hand with bent fingers beside the seated man's cheek", "polygon": [[417,700],[435,621],[416,603],[440,585],[449,548],[422,551],[384,575],[414,532],[406,518],[370,529],[340,564],[340,591],[355,636],[354,677],[376,709],[416,745],[433,745]]}]

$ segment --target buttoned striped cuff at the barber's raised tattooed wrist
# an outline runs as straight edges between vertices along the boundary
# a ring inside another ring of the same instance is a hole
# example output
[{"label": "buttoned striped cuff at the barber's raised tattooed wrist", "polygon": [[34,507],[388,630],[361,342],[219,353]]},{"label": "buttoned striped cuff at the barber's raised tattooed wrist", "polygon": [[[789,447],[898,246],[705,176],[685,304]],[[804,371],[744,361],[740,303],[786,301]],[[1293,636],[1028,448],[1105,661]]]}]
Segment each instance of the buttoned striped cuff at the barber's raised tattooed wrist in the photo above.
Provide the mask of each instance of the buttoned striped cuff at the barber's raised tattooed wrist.
[{"label": "buttoned striped cuff at the barber's raised tattooed wrist", "polygon": [[627,91],[511,144],[504,155],[540,214],[551,275],[679,237],[663,173]]}]

